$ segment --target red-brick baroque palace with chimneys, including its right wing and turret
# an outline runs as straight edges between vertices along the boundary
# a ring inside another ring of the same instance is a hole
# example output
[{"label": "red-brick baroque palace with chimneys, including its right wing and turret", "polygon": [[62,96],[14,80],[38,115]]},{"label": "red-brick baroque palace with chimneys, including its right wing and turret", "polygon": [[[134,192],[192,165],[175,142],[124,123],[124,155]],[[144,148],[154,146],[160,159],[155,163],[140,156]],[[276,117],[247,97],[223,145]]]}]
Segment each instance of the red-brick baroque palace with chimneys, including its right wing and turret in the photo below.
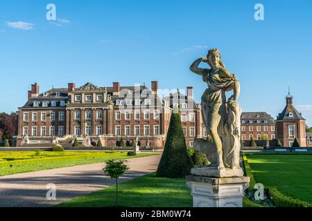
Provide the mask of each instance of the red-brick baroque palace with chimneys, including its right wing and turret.
[{"label": "red-brick baroque palace with chimneys, including its right wing and turret", "polygon": [[[98,87],[87,83],[80,88],[52,88],[40,93],[38,84],[28,91],[28,101],[19,108],[16,146],[71,146],[75,139],[84,146],[101,140],[103,146],[116,146],[121,137],[130,143],[138,138],[141,146],[163,147],[174,106],[180,108],[187,146],[195,138],[207,137],[201,106],[193,99],[193,87],[186,95],[179,90],[164,96],[158,82],[144,86]],[[297,138],[306,146],[305,119],[286,96],[286,107],[277,120],[265,112],[245,112],[241,116],[241,140],[268,137],[291,146]],[[248,144],[247,144],[248,145]]]}]

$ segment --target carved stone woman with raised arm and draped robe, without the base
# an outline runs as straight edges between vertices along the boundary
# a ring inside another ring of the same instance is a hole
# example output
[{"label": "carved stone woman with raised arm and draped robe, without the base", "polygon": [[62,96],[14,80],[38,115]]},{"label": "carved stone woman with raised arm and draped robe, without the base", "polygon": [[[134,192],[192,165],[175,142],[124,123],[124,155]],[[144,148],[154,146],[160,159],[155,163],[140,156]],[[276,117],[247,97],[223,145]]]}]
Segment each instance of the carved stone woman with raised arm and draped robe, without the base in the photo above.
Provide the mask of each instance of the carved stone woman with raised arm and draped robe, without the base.
[{"label": "carved stone woman with raised arm and draped robe, without the base", "polygon": [[[211,146],[214,146],[215,163],[219,170],[239,167],[237,142],[240,143],[241,123],[241,109],[237,103],[240,84],[237,77],[225,68],[220,57],[219,50],[213,48],[207,57],[197,59],[190,68],[193,73],[201,75],[208,85],[202,95],[202,118],[213,140]],[[201,62],[207,63],[211,69],[198,68]],[[229,90],[233,90],[234,94],[226,101],[225,92]]]}]

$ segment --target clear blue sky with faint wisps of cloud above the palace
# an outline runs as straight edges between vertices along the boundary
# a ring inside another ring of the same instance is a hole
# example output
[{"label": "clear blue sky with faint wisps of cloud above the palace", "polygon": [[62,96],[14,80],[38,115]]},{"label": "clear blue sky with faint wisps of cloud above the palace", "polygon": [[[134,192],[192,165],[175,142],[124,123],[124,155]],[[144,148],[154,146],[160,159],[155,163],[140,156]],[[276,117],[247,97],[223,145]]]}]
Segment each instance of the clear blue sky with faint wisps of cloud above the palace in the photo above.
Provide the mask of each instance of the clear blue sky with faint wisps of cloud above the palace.
[{"label": "clear blue sky with faint wisps of cloud above the palace", "polygon": [[[54,3],[57,21],[46,20]],[[254,5],[264,6],[264,21]],[[21,21],[20,23],[17,23]],[[243,111],[276,117],[288,86],[312,126],[312,1],[0,1],[0,111],[17,111],[31,84],[207,86],[189,71],[219,48],[241,81]]]}]

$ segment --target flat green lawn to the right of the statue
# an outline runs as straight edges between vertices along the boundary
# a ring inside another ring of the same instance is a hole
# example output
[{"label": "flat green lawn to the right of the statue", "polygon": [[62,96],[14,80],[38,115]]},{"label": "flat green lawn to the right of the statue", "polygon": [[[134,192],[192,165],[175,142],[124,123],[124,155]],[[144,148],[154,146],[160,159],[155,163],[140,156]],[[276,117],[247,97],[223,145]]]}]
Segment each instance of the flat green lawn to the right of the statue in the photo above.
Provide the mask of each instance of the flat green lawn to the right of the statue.
[{"label": "flat green lawn to the right of the statue", "polygon": [[312,203],[312,155],[246,155],[256,182]]}]

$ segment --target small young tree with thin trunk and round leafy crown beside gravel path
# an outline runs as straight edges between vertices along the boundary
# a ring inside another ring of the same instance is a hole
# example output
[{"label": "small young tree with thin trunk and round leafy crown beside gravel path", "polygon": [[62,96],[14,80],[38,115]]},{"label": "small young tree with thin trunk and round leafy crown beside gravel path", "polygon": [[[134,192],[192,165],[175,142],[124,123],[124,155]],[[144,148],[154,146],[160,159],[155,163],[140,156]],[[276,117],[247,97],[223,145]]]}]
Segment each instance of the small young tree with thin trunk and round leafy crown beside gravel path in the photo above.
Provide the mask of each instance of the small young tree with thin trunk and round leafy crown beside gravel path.
[{"label": "small young tree with thin trunk and round leafy crown beside gravel path", "polygon": [[129,170],[129,167],[124,163],[125,160],[119,160],[114,162],[114,160],[108,160],[106,166],[103,168],[105,175],[109,176],[111,179],[116,180],[116,206],[118,206],[118,178]]}]

